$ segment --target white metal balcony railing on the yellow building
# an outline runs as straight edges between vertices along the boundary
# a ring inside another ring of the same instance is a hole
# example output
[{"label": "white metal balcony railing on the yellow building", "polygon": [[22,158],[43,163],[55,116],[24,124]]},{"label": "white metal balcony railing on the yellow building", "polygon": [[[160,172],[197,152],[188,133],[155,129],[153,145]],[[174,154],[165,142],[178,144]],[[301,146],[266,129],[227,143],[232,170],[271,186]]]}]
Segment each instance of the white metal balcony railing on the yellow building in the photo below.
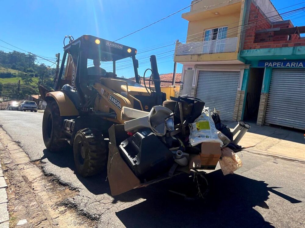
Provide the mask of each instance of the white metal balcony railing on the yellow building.
[{"label": "white metal balcony railing on the yellow building", "polygon": [[237,49],[237,40],[238,37],[234,37],[222,40],[209,40],[187,44],[178,44],[176,55],[235,52]]}]

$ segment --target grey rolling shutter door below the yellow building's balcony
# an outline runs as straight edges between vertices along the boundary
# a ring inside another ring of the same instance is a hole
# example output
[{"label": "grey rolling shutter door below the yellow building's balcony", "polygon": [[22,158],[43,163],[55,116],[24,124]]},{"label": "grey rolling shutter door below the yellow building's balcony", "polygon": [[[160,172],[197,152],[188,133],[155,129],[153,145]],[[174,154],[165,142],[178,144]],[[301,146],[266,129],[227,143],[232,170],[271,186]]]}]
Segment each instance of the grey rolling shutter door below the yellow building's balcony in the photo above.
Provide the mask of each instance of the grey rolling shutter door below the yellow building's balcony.
[{"label": "grey rolling shutter door below the yellow building's balcony", "polygon": [[196,97],[219,110],[222,120],[232,120],[239,75],[239,71],[199,71]]}]

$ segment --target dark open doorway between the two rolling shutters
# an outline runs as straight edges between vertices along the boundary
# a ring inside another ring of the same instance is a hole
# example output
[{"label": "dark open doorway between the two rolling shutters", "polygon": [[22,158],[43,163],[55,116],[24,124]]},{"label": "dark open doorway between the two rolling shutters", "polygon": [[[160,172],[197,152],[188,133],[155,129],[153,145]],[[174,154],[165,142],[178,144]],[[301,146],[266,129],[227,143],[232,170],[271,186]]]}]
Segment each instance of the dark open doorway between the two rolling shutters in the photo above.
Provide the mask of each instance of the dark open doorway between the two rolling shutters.
[{"label": "dark open doorway between the two rolling shutters", "polygon": [[246,94],[246,107],[244,120],[257,121],[258,109],[260,107],[260,93],[262,90],[265,68],[251,68]]}]

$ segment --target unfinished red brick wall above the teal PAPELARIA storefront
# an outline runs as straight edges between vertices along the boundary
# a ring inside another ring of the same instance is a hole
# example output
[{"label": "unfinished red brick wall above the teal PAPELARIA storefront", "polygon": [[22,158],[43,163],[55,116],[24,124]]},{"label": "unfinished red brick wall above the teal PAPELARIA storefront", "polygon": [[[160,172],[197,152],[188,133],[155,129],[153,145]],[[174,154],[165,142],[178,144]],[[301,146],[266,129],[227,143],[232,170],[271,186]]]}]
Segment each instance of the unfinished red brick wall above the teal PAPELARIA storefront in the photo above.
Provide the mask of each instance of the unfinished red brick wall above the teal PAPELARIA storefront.
[{"label": "unfinished red brick wall above the teal PAPELARIA storefront", "polygon": [[259,49],[259,48],[277,48],[277,47],[294,47],[305,46],[305,39],[299,37],[298,34],[292,34],[288,40],[288,35],[274,35],[274,32],[256,33],[257,30],[271,28],[291,28],[294,27],[290,21],[282,23],[271,23],[264,16],[264,13],[251,3],[249,13],[249,24],[245,25],[246,34],[243,49]]}]

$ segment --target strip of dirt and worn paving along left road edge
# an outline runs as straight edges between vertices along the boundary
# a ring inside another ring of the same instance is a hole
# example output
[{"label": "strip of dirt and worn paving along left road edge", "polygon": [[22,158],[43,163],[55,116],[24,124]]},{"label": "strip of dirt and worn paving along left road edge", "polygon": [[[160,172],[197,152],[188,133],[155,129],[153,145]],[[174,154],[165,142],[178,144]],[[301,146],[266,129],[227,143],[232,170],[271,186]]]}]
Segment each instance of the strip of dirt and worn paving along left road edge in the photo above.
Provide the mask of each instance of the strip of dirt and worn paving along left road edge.
[{"label": "strip of dirt and worn paving along left road edge", "polygon": [[[0,157],[8,185],[9,226],[16,227],[95,227],[96,222],[78,215],[64,206],[66,198],[77,191],[60,185],[53,177],[46,177],[38,162],[30,162],[27,154],[0,129]],[[20,227],[20,226],[17,226]]]}]

